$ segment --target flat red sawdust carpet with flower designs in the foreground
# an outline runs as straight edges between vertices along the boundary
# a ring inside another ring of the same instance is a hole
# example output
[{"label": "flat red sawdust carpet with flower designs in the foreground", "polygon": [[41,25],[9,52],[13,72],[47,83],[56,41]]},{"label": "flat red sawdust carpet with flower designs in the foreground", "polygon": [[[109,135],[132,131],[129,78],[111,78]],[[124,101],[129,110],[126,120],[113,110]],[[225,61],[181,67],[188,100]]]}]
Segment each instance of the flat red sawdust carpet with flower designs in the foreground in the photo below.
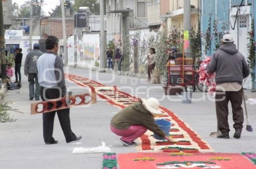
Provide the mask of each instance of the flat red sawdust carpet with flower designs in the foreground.
[{"label": "flat red sawdust carpet with flower designs in the foreground", "polygon": [[256,169],[249,159],[236,153],[129,153],[118,154],[119,169],[221,168]]}]

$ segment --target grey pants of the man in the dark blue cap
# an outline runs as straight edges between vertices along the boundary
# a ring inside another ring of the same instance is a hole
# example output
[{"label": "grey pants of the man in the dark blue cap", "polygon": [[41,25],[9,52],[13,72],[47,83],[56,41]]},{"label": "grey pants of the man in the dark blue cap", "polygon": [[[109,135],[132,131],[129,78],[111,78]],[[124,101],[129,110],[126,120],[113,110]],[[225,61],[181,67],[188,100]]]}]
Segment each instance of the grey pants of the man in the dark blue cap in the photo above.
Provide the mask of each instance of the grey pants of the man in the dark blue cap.
[{"label": "grey pants of the man in the dark blue cap", "polygon": [[[35,99],[39,99],[40,96],[40,87],[38,83],[38,76],[36,73],[29,73],[28,74],[28,82],[29,82],[29,97]],[[35,85],[36,83],[36,90],[35,90]]]}]

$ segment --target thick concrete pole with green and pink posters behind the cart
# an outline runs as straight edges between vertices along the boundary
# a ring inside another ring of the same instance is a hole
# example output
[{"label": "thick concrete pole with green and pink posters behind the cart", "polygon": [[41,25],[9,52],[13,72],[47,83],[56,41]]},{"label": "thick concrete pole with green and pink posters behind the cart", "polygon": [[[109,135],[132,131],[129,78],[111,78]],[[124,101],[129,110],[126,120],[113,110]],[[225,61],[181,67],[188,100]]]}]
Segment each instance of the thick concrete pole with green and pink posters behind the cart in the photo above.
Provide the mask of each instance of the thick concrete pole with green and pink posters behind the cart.
[{"label": "thick concrete pole with green and pink posters behind the cart", "polygon": [[[184,0],[184,13],[183,13],[183,19],[184,19],[184,30],[189,31],[189,35],[191,33],[192,27],[191,27],[191,6],[190,6],[190,0]],[[190,40],[190,37],[189,37]],[[188,48],[185,48],[185,53],[191,52],[191,46],[189,44]]]}]

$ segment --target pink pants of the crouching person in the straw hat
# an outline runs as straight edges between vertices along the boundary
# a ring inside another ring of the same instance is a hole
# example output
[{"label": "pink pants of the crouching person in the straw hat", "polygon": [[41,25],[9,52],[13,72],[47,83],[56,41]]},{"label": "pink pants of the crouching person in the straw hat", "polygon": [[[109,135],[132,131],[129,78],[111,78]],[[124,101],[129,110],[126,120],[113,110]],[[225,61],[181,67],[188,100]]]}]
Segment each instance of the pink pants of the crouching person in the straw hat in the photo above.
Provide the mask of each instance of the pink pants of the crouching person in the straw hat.
[{"label": "pink pants of the crouching person in the straw hat", "polygon": [[110,125],[110,129],[113,133],[119,136],[123,136],[120,139],[132,143],[136,138],[142,136],[148,129],[144,126],[134,125],[130,126],[128,129],[116,129]]}]

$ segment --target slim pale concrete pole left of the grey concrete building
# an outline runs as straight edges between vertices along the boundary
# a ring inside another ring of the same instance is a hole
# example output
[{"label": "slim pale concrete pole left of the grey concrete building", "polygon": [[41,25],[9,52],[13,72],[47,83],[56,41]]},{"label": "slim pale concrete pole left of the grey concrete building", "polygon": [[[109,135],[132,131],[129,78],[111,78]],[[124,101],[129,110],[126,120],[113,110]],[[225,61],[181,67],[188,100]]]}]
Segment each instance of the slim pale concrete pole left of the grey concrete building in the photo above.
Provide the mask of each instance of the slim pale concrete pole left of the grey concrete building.
[{"label": "slim pale concrete pole left of the grey concrete building", "polygon": [[105,29],[104,29],[104,0],[100,0],[100,68],[103,70],[105,68],[106,59],[105,59]]}]

